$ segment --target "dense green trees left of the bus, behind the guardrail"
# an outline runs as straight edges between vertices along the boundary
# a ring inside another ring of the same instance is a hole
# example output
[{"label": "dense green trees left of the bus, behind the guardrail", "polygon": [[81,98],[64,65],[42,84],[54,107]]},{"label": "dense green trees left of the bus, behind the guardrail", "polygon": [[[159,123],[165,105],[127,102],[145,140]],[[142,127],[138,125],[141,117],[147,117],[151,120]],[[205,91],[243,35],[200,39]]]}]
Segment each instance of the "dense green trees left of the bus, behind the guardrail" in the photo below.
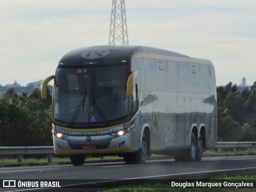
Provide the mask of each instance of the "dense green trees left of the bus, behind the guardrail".
[{"label": "dense green trees left of the bus, behind the guardrail", "polygon": [[51,146],[51,98],[42,101],[38,89],[27,96],[14,88],[0,96],[0,146]]}]

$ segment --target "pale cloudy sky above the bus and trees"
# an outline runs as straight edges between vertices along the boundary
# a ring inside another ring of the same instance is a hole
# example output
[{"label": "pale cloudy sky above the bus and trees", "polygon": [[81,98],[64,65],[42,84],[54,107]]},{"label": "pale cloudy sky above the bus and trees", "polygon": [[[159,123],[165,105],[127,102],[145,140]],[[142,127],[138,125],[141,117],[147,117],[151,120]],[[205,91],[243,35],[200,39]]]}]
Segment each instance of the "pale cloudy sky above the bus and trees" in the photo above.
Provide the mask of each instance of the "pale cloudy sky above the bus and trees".
[{"label": "pale cloudy sky above the bus and trees", "polygon": [[[216,84],[256,81],[255,0],[125,0],[130,45],[211,60]],[[0,84],[55,73],[68,51],[108,44],[112,0],[0,0]]]}]

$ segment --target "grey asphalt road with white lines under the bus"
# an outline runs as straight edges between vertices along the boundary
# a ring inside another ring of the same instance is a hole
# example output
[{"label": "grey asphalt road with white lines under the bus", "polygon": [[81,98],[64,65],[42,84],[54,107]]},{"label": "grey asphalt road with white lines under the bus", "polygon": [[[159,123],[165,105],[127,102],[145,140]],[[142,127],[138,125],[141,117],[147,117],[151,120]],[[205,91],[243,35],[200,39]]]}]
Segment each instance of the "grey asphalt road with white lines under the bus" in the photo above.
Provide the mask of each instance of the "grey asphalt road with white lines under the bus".
[{"label": "grey asphalt road with white lines under the bus", "polygon": [[[203,158],[201,162],[175,162],[168,160],[150,160],[144,164],[125,164],[124,162],[84,164],[83,166],[36,166],[0,168],[3,180],[58,180],[65,179],[62,186],[79,184],[80,187],[134,180],[174,180],[208,179],[218,175],[255,174],[256,156],[228,156]],[[10,191],[11,188],[0,188]]]}]

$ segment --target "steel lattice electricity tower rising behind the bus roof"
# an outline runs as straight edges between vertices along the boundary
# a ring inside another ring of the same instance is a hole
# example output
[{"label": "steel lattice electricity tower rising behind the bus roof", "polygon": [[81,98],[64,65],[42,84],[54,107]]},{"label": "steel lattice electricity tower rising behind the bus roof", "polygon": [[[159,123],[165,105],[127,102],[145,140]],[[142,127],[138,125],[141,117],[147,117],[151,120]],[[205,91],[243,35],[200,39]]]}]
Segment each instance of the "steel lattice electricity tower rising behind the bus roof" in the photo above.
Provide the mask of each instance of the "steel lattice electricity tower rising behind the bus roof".
[{"label": "steel lattice electricity tower rising behind the bus roof", "polygon": [[113,0],[108,44],[128,45],[124,0]]}]

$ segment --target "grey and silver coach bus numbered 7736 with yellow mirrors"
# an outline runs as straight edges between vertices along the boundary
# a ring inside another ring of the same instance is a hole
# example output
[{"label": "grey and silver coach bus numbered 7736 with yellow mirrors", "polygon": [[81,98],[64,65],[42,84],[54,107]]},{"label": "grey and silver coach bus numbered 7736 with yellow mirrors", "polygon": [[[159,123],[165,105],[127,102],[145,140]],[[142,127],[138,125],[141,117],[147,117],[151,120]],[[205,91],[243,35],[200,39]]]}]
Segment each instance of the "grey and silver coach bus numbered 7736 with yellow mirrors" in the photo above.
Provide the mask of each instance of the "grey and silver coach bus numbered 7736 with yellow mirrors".
[{"label": "grey and silver coach bus numbered 7736 with yellow mirrors", "polygon": [[200,161],[217,143],[215,72],[209,60],[146,46],[78,48],[64,55],[54,79],[56,155],[73,165],[86,156],[120,156],[141,164],[151,154]]}]

